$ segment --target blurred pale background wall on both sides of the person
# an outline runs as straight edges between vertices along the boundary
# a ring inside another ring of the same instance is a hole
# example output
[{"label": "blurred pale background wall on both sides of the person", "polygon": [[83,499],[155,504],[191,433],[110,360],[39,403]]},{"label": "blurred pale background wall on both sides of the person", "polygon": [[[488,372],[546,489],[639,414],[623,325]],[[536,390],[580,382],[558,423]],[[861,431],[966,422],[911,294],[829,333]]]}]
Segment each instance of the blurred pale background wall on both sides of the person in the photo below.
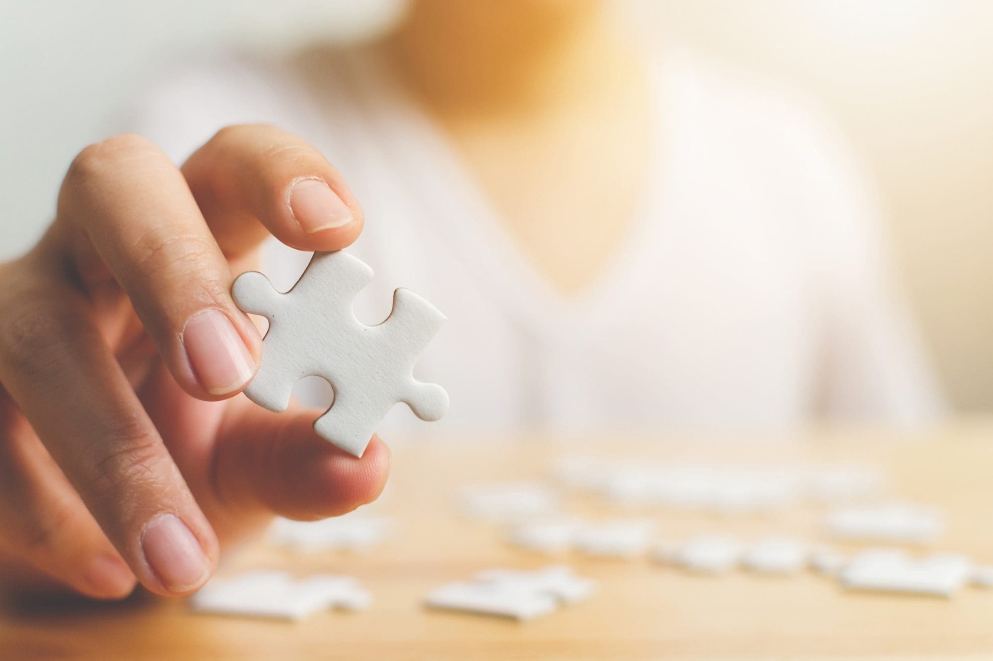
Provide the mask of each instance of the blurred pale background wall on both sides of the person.
[{"label": "blurred pale background wall on both sides of the person", "polygon": [[[0,259],[50,221],[72,156],[180,54],[360,41],[398,0],[0,2]],[[883,195],[951,404],[993,410],[993,3],[619,2],[640,39],[780,78],[840,123]]]}]

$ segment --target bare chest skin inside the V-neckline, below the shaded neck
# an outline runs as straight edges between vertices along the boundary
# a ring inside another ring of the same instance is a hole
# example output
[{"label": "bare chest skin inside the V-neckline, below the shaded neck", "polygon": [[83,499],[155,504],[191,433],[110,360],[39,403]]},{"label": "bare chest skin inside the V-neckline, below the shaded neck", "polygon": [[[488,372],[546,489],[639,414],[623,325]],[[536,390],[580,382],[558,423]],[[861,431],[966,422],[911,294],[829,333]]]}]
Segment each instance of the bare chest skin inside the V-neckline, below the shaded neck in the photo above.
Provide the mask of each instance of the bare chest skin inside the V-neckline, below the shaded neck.
[{"label": "bare chest skin inside the V-neckline, below the shaded neck", "polygon": [[445,124],[469,179],[556,291],[596,279],[630,229],[650,161],[639,90],[527,120]]}]

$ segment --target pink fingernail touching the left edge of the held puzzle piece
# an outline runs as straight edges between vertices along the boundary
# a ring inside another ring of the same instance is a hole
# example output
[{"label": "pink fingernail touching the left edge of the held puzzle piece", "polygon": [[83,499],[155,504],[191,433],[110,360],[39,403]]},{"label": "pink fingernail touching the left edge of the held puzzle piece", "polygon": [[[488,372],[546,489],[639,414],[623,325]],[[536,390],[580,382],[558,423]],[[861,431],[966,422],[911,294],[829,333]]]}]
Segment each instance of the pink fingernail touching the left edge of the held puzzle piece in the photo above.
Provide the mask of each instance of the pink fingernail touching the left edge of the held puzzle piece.
[{"label": "pink fingernail touching the left edge of the held puzzle piece", "polygon": [[234,392],[255,373],[255,361],[227,315],[204,310],[187,322],[183,345],[197,380],[212,395]]}]

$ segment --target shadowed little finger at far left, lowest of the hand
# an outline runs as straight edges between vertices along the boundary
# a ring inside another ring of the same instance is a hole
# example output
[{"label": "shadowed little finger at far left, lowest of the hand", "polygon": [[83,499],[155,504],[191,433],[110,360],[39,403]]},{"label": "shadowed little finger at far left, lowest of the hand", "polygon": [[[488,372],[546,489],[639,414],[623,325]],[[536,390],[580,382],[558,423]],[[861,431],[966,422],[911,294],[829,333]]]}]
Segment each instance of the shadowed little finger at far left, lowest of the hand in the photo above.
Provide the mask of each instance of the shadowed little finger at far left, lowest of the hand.
[{"label": "shadowed little finger at far left, lowest of the hand", "polygon": [[129,595],[134,574],[13,408],[0,402],[0,548],[83,595]]}]

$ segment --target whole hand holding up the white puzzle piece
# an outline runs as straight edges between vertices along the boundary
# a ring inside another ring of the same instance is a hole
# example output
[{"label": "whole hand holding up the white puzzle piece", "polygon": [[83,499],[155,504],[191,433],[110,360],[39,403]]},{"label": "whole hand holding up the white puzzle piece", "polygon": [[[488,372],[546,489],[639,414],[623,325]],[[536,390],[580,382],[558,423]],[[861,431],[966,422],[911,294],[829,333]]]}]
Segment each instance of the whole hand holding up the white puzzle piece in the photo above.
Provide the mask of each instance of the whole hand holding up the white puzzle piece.
[{"label": "whole hand holding up the white puzzle piece", "polygon": [[223,129],[181,169],[139,136],[84,149],[45,237],[0,264],[0,574],[183,595],[273,514],[373,500],[378,439],[355,459],[314,434],[320,412],[234,397],[262,343],[232,273],[270,233],[337,250],[361,226],[341,175],[269,126]]}]

